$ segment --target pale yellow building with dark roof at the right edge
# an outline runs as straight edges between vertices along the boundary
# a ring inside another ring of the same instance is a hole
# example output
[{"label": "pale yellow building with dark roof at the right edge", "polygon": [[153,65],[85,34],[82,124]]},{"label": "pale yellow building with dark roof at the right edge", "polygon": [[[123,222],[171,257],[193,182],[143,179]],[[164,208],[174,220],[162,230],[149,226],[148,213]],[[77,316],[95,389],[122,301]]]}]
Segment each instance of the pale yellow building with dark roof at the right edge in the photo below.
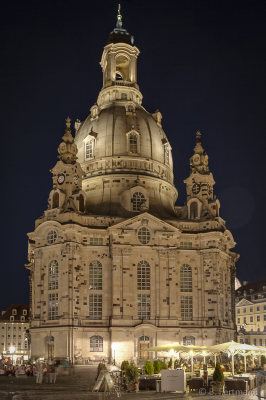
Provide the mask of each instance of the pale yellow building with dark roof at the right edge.
[{"label": "pale yellow building with dark roof at the right edge", "polygon": [[235,290],[235,322],[240,343],[266,346],[266,279]]}]

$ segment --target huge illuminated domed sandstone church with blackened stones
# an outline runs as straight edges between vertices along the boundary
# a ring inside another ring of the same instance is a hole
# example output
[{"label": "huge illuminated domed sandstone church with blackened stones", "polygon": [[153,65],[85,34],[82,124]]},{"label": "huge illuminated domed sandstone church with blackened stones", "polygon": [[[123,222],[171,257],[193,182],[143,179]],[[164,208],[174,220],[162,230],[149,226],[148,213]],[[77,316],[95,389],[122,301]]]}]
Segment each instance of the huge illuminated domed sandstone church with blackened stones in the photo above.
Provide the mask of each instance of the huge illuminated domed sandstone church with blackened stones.
[{"label": "huge illuminated domed sandstone church with blackened stones", "polygon": [[139,50],[117,19],[97,103],[74,140],[67,118],[49,206],[28,233],[32,357],[147,358],[150,345],[235,336],[238,254],[200,132],[187,202],[174,206],[162,115],[141,105]]}]

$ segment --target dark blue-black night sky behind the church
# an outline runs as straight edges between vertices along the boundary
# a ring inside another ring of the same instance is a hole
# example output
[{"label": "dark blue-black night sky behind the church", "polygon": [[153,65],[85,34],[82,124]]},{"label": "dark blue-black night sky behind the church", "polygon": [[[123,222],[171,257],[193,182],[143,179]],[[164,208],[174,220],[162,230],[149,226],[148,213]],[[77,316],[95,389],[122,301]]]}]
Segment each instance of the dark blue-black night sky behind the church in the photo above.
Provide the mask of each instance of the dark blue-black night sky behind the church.
[{"label": "dark blue-black night sky behind the church", "polygon": [[[236,275],[265,279],[265,1],[120,1],[140,50],[142,105],[159,109],[172,146],[176,205],[199,129],[220,216],[237,242]],[[0,311],[29,301],[26,233],[47,208],[64,119],[83,121],[97,99],[117,6],[1,1]]]}]

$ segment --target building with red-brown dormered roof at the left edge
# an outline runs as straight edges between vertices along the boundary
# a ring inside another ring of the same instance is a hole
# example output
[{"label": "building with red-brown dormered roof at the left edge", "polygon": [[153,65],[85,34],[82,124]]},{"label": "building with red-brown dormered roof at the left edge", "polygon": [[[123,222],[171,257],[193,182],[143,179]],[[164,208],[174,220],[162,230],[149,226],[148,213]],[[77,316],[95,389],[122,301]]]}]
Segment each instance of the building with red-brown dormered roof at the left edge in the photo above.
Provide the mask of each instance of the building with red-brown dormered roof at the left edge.
[{"label": "building with red-brown dormered roof at the left edge", "polygon": [[28,315],[28,304],[12,304],[7,311],[2,311],[0,316],[0,353],[7,358],[10,355],[10,347],[14,347],[13,359],[16,359],[17,363],[28,358]]}]

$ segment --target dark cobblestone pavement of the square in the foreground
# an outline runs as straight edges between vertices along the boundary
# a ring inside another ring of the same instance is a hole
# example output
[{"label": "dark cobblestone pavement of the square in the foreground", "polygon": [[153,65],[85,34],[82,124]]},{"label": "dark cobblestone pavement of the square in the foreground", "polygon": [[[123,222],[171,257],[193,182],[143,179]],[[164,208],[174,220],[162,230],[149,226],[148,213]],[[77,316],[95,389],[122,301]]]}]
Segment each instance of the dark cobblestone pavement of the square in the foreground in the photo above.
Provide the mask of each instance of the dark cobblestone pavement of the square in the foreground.
[{"label": "dark cobblestone pavement of the square in the foreground", "polygon": [[[186,393],[156,393],[152,390],[141,390],[137,393],[118,393],[99,392],[91,393],[94,386],[95,366],[76,367],[74,375],[64,375],[60,371],[55,384],[47,384],[45,378],[42,384],[36,383],[36,378],[31,376],[0,376],[0,400],[202,400],[213,398],[213,394],[199,394],[198,391]],[[261,386],[261,396],[266,398],[266,385]],[[215,397],[217,398],[217,397]],[[226,393],[224,400],[259,400],[256,389],[246,394]]]}]

